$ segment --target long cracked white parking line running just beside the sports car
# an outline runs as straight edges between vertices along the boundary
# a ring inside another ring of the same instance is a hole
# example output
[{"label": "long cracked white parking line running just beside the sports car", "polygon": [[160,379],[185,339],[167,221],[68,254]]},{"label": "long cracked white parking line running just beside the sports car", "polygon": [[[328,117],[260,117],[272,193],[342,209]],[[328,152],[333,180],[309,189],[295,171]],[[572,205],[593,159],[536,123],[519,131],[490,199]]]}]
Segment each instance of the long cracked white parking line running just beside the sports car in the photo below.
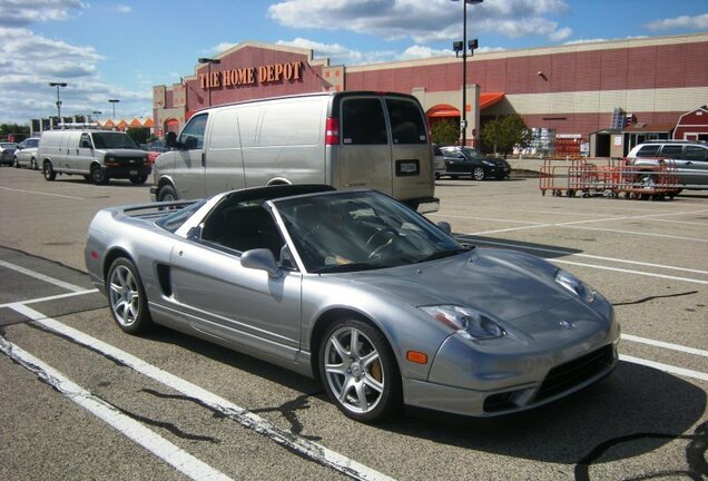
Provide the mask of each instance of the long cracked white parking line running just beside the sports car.
[{"label": "long cracked white parking line running just beside the sports car", "polygon": [[173,390],[193,399],[199,400],[204,405],[219,412],[245,428],[248,428],[258,434],[264,434],[272,441],[286,446],[287,449],[298,453],[302,457],[311,459],[319,464],[332,468],[345,475],[357,480],[386,481],[392,478],[380,473],[357,461],[346,458],[335,451],[323,445],[314,443],[305,438],[298,436],[292,431],[277,428],[269,421],[240,408],[224,397],[220,397],[196,384],[178,377],[167,371],[154,366],[139,357],[134,356],[125,351],[119,350],[110,344],[97,340],[81,331],[60,323],[51,317],[45,316],[42,313],[35,311],[22,303],[11,304],[10,307],[18,313],[31,318],[37,324],[69,337],[78,344],[85,345],[95,352],[101,353],[107,357],[118,361],[127,367],[157,381]]}]

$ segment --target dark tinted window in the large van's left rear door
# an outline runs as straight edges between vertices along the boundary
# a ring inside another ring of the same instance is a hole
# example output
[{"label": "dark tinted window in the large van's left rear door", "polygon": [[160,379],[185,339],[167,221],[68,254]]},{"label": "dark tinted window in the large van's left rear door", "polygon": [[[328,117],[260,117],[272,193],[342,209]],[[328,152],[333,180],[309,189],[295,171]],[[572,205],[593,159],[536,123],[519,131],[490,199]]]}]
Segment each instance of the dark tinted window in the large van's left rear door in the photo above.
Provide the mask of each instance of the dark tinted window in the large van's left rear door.
[{"label": "dark tinted window in the large van's left rear door", "polygon": [[377,98],[356,98],[342,102],[342,144],[381,145],[389,143],[386,120]]}]

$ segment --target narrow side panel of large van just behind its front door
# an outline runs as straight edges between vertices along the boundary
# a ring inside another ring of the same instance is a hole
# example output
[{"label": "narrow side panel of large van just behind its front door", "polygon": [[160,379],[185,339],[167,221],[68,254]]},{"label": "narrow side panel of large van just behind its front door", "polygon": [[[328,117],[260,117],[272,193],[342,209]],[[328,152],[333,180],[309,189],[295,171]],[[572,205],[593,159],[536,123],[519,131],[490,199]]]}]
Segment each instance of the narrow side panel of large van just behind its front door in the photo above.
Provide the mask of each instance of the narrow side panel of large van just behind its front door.
[{"label": "narrow side panel of large van just behind its front door", "polygon": [[215,110],[206,141],[206,190],[215,194],[244,188],[244,159],[235,107]]}]

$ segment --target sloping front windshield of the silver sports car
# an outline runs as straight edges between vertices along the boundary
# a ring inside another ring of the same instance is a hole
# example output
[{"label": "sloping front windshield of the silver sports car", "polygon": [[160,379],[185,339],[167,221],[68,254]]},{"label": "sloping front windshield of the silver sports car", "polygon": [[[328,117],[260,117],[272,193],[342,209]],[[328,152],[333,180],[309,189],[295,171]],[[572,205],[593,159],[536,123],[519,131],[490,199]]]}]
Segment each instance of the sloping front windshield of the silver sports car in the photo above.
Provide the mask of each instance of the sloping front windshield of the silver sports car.
[{"label": "sloping front windshield of the silver sports car", "polygon": [[275,200],[307,272],[407,265],[466,248],[425,217],[377,192]]}]

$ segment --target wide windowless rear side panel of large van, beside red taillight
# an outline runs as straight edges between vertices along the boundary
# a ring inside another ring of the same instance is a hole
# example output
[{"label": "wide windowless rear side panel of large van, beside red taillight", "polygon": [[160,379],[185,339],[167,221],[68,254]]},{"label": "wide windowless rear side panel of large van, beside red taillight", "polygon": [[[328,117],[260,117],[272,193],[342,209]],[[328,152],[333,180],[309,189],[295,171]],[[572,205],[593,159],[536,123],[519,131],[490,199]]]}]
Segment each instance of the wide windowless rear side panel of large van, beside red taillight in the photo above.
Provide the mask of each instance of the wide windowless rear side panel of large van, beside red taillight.
[{"label": "wide windowless rear side panel of large van, beside red taillight", "polygon": [[327,180],[324,146],[327,100],[327,97],[308,97],[239,108],[246,187]]}]

